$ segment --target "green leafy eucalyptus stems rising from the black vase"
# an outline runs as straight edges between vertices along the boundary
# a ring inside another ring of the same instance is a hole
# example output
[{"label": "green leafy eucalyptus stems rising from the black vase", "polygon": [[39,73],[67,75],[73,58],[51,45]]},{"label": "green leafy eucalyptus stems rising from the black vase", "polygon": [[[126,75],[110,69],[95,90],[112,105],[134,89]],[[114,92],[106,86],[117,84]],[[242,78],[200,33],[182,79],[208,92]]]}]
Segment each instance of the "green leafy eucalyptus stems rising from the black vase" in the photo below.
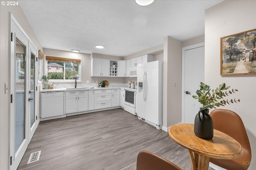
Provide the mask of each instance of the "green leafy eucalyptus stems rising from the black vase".
[{"label": "green leafy eucalyptus stems rising from the black vase", "polygon": [[[196,91],[196,94],[198,96],[192,96],[194,99],[198,99],[198,101],[203,105],[202,109],[212,109],[220,106],[225,106],[226,104],[230,103],[237,103],[240,102],[240,99],[231,99],[230,101],[224,100],[223,98],[228,96],[229,94],[235,93],[235,91],[238,91],[237,89],[232,89],[232,91],[225,91],[230,88],[230,86],[226,87],[225,83],[222,83],[219,87],[217,87],[215,90],[211,90],[210,86],[206,85],[205,83],[200,83],[200,90]],[[215,107],[216,106],[216,107]]]}]

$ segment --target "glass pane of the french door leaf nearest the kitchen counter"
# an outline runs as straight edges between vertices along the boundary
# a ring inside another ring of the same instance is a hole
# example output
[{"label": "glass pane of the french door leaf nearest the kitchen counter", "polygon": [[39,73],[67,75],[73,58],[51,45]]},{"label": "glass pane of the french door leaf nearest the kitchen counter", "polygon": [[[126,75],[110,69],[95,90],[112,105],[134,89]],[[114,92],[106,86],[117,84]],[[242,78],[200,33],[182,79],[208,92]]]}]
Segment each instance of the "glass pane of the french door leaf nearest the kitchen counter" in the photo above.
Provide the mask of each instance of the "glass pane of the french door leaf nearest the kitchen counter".
[{"label": "glass pane of the french door leaf nearest the kitchen counter", "polygon": [[[30,99],[34,99],[35,89],[35,58],[36,56],[31,52],[30,63]],[[30,128],[35,122],[35,99],[30,101]]]}]

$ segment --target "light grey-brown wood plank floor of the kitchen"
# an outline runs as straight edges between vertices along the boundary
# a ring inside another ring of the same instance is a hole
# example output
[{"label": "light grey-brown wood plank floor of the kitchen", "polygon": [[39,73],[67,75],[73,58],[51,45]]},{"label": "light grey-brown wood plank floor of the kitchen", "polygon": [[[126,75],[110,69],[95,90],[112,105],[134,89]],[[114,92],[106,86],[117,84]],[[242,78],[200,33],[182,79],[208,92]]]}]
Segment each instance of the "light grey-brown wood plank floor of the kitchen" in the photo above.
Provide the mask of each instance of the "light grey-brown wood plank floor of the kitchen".
[{"label": "light grey-brown wood plank floor of the kitchen", "polygon": [[[30,154],[39,150],[40,159],[27,164]],[[168,132],[123,109],[40,122],[18,170],[135,170],[140,150],[191,170],[188,150]]]}]

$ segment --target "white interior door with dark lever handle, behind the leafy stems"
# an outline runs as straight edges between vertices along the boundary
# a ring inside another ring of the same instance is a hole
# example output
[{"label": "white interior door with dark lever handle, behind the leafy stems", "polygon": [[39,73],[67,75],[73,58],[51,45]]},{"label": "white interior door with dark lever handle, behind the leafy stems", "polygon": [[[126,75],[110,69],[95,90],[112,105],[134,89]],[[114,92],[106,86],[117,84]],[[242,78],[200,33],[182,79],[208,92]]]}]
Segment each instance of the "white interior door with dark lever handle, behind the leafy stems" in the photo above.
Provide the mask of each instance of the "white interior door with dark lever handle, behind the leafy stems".
[{"label": "white interior door with dark lever handle, behind the leafy stems", "polygon": [[194,124],[202,105],[192,97],[204,82],[204,43],[182,49],[182,123]]}]

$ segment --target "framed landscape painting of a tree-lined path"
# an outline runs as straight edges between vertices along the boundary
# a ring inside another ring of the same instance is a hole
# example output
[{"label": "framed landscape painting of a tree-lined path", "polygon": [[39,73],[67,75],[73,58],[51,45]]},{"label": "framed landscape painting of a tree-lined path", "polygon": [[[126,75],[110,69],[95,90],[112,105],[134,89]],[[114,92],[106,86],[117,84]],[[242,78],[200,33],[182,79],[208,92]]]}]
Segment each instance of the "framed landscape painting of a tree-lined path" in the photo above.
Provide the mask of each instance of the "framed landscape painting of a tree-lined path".
[{"label": "framed landscape painting of a tree-lined path", "polygon": [[220,75],[256,74],[256,29],[220,38]]}]

